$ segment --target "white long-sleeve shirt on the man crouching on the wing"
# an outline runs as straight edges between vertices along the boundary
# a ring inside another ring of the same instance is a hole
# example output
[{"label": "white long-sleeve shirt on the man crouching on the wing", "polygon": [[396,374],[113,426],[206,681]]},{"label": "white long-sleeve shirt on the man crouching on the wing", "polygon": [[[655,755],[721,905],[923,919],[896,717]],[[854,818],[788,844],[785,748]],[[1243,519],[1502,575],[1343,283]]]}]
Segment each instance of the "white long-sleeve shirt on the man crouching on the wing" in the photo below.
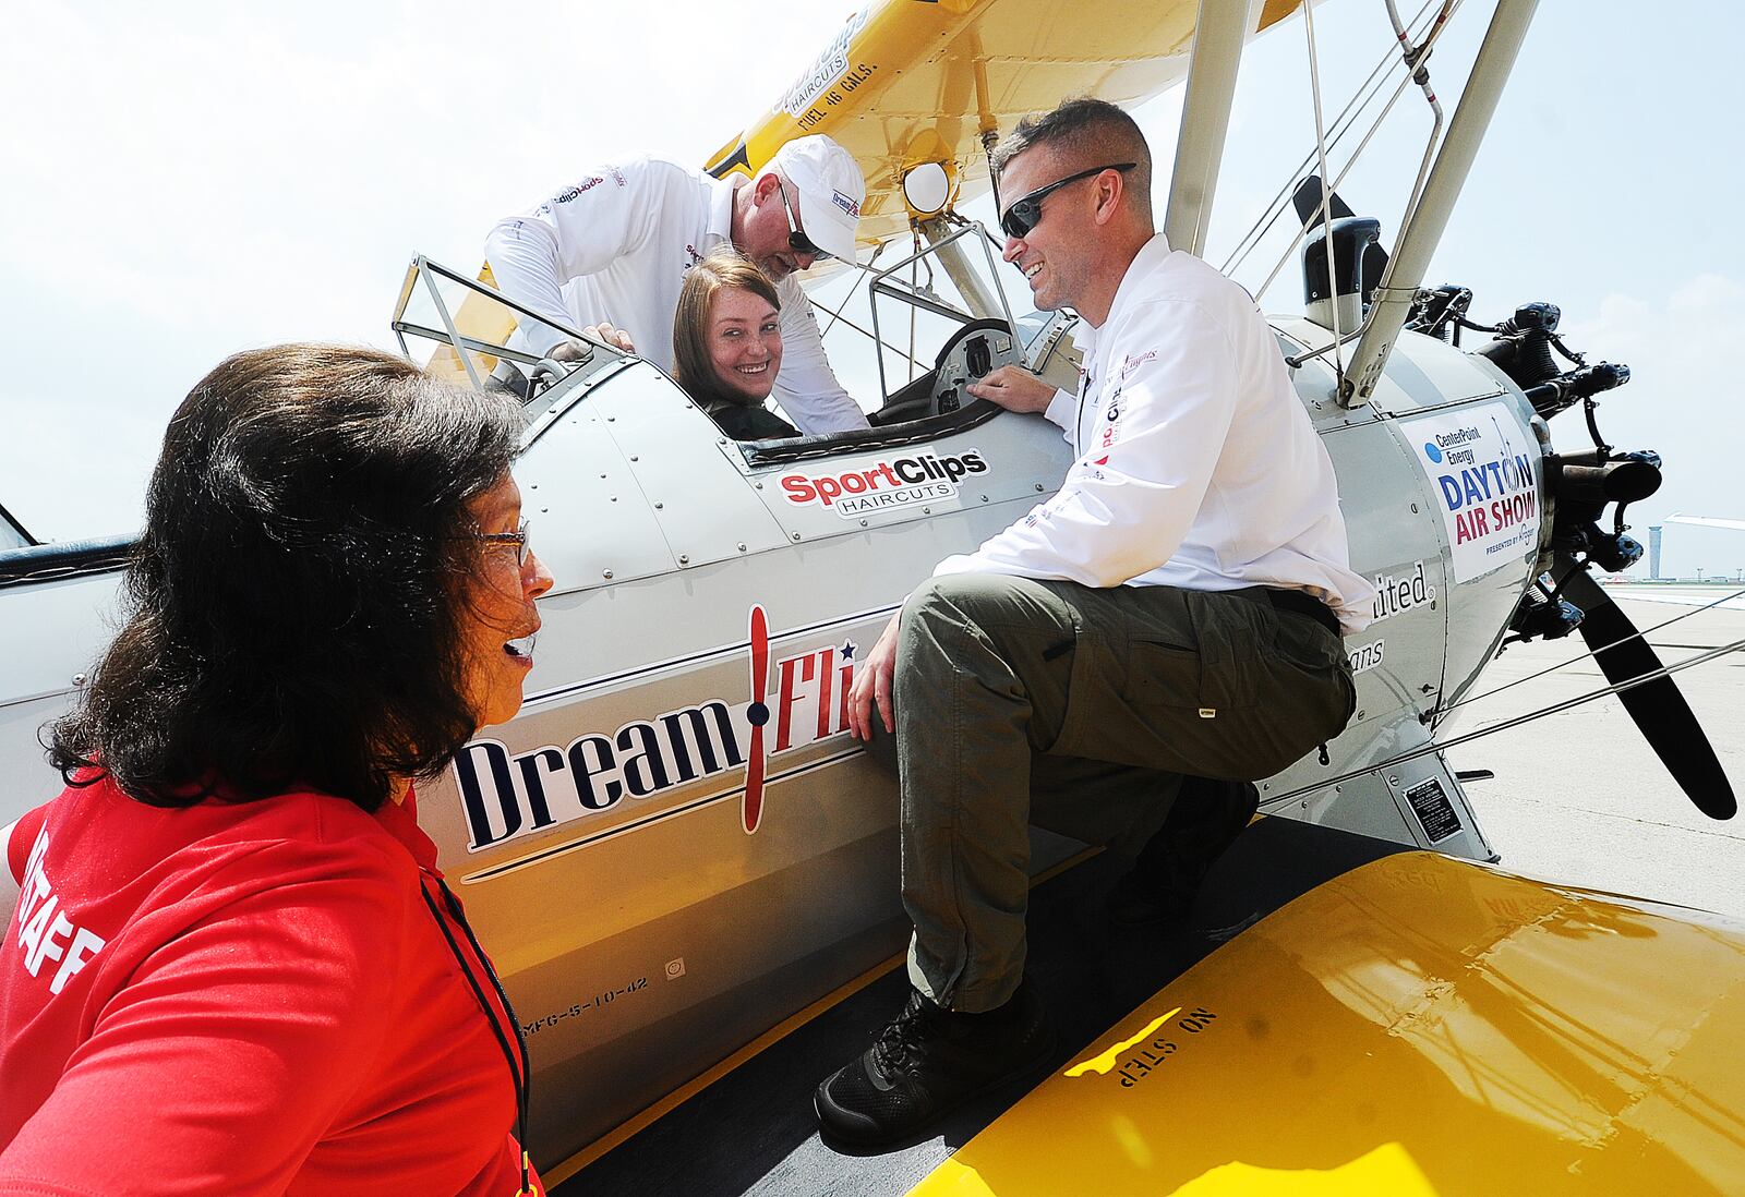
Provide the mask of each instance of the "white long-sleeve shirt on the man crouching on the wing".
[{"label": "white long-sleeve shirt on the man crouching on the wing", "polygon": [[1305,590],[1361,632],[1375,592],[1349,565],[1333,462],[1248,293],[1157,234],[1108,319],[1080,328],[1078,398],[1047,410],[1078,461],[1050,499],[934,574]]}]

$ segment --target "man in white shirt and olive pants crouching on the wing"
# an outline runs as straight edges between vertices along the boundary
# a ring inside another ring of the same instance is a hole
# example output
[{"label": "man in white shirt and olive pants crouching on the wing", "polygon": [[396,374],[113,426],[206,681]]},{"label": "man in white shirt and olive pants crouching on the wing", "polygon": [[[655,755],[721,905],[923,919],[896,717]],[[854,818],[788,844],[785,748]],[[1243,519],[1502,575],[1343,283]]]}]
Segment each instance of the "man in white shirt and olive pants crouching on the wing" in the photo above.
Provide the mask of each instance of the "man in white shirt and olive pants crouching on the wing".
[{"label": "man in white shirt and olive pants crouching on the wing", "polygon": [[1005,260],[1037,307],[1078,312],[1084,377],[1077,398],[1010,366],[970,389],[1045,414],[1078,459],[1052,499],[941,562],[855,670],[855,735],[876,707],[897,736],[914,921],[906,1009],[815,1096],[824,1131],[859,1145],[906,1139],[1049,1059],[1024,982],[1033,813],[1129,845],[1155,831],[1141,869],[1166,876],[1117,893],[1141,916],[1167,906],[1153,886],[1173,883],[1176,815],[1181,841],[1216,855],[1255,810],[1244,783],[1345,726],[1340,633],[1373,598],[1272,330],[1153,232],[1133,119],[1070,99],[1019,122],[995,169],[1016,197]]}]

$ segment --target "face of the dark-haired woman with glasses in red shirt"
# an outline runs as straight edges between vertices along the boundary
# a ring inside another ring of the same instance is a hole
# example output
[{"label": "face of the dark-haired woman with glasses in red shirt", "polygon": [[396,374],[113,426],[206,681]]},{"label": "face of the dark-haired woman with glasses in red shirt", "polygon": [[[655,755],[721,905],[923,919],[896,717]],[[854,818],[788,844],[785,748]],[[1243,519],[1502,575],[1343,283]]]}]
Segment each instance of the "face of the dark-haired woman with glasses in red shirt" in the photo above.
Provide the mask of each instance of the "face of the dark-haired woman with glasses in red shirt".
[{"label": "face of the dark-haired woman with glasses in red shirt", "polygon": [[[522,492],[503,476],[466,504],[482,536],[515,532],[522,522]],[[520,562],[515,544],[478,541],[476,567],[461,600],[466,649],[466,698],[480,728],[508,722],[522,708],[522,682],[534,665],[532,633],[539,630],[534,598],[551,590],[551,574],[527,550]]]}]

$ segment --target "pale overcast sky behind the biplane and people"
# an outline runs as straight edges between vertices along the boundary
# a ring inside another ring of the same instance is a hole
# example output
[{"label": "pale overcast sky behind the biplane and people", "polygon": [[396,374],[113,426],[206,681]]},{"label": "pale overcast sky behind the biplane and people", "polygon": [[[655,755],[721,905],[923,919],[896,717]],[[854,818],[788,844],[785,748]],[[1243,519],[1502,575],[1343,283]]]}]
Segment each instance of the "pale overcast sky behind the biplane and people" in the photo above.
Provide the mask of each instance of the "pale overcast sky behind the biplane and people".
[{"label": "pale overcast sky behind the biplane and people", "polygon": [[[168,414],[229,352],[279,340],[393,345],[414,253],[473,267],[492,222],[590,162],[701,161],[799,75],[850,3],[17,5],[0,73],[0,503],[38,537],[138,525]],[[1401,9],[1415,5],[1401,3]],[[1468,0],[1431,61],[1454,110],[1488,21]],[[1658,448],[1632,515],[1745,518],[1738,138],[1726,119],[1740,5],[1544,0],[1429,270],[1494,321],[1564,309],[1626,361],[1602,429]],[[708,14],[708,16],[705,16]],[[1382,5],[1316,14],[1328,117],[1391,31]],[[1178,98],[1138,112],[1159,161]],[[1415,91],[1342,187],[1393,244],[1429,117]],[[1222,265],[1312,147],[1304,23],[1249,47],[1208,256]],[[1276,260],[1237,270],[1253,286]],[[1267,311],[1300,311],[1290,265]],[[852,389],[869,384],[848,379]],[[871,398],[871,396],[867,396]],[[1560,447],[1584,441],[1558,417]],[[1665,571],[1745,569],[1745,532],[1672,527]],[[1644,571],[1646,572],[1646,571]]]}]

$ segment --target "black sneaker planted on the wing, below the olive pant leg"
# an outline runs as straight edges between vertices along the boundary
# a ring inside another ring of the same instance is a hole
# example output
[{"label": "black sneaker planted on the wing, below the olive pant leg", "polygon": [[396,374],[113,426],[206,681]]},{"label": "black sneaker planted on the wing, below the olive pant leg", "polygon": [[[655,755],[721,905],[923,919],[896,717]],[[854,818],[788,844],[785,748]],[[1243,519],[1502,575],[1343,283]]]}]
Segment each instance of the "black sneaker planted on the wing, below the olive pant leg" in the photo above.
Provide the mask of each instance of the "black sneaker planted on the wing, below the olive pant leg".
[{"label": "black sneaker planted on the wing, below the olive pant leg", "polygon": [[909,991],[909,1005],[811,1098],[825,1136],[886,1146],[1044,1064],[1054,1031],[1035,989],[986,1014],[955,1014]]}]

